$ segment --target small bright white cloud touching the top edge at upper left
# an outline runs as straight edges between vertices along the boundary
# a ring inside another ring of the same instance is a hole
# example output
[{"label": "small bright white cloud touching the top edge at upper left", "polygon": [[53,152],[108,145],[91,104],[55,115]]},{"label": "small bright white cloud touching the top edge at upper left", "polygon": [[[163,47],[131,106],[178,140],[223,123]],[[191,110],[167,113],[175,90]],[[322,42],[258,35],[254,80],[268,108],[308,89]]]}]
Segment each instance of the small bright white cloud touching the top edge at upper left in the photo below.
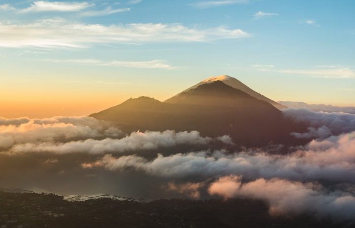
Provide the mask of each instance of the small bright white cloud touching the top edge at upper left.
[{"label": "small bright white cloud touching the top edge at upper left", "polygon": [[31,12],[76,12],[81,11],[83,9],[94,6],[93,4],[89,4],[87,2],[45,2],[45,1],[37,1],[33,2],[33,4],[26,8],[22,9],[20,13],[31,13]]}]

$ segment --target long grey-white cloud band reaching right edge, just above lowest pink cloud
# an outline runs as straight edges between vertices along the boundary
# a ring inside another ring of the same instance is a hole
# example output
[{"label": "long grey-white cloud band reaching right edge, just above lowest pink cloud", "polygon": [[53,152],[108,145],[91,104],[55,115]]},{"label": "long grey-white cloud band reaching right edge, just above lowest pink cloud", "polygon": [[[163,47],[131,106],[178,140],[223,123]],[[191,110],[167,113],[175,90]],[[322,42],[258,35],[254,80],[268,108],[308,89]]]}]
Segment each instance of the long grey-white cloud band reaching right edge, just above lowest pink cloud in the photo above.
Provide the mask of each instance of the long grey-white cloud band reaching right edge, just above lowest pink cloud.
[{"label": "long grey-white cloud band reaching right edge, just above lowest pink cloud", "polygon": [[111,171],[135,169],[169,178],[242,175],[248,179],[286,178],[298,181],[355,183],[355,133],[313,140],[288,155],[270,155],[263,150],[229,154],[224,150],[200,151],[148,160],[136,155],[105,155],[85,168],[103,167]]}]

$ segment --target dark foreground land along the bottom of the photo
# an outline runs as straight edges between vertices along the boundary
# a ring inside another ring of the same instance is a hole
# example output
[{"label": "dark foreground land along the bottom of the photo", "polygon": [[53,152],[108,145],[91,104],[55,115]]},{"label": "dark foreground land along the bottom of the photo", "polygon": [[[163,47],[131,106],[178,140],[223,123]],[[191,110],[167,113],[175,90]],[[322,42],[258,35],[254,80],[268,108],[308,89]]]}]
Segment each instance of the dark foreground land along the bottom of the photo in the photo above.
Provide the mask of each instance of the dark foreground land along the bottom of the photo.
[{"label": "dark foreground land along the bottom of the photo", "polygon": [[0,192],[0,227],[352,227],[311,216],[272,217],[262,201],[112,199],[68,202],[61,196]]}]

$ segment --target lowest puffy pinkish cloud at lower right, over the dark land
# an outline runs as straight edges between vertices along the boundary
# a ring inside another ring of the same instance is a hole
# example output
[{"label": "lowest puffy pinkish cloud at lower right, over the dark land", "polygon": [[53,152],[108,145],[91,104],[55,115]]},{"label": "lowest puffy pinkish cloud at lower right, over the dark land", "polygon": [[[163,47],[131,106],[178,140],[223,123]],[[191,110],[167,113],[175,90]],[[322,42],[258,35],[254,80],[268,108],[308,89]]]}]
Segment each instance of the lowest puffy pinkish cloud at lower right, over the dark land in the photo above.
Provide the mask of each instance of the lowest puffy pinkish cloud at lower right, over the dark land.
[{"label": "lowest puffy pinkish cloud at lower right, over the dark land", "polygon": [[331,216],[336,220],[353,220],[355,197],[349,193],[327,192],[314,183],[301,183],[283,179],[263,178],[242,183],[240,176],[225,176],[212,183],[211,195],[225,198],[251,197],[266,200],[272,215],[297,215],[308,212]]}]

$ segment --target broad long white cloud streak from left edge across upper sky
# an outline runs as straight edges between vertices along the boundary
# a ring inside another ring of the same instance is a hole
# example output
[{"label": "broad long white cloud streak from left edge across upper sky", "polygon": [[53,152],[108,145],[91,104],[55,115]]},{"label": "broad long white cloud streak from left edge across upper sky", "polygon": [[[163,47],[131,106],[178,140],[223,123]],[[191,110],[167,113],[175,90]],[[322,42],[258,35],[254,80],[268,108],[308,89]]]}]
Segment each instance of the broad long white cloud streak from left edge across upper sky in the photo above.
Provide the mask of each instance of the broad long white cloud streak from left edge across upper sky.
[{"label": "broad long white cloud streak from left edge across upper sky", "polygon": [[201,29],[182,24],[100,25],[41,20],[29,24],[0,23],[0,47],[85,48],[93,44],[156,42],[211,42],[240,39],[250,34],[241,29]]}]

